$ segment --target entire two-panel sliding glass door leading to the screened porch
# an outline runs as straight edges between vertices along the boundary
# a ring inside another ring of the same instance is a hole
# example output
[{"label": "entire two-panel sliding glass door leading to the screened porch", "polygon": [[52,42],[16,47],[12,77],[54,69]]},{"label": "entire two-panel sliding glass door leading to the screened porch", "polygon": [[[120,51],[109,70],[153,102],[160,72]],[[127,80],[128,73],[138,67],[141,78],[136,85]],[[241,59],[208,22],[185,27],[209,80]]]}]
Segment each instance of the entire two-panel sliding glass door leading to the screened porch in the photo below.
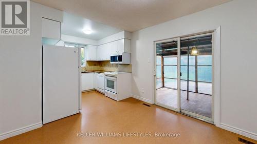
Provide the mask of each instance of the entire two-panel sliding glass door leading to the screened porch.
[{"label": "entire two-panel sliding glass door leading to the screened porch", "polygon": [[155,43],[155,104],[213,122],[213,33]]}]

